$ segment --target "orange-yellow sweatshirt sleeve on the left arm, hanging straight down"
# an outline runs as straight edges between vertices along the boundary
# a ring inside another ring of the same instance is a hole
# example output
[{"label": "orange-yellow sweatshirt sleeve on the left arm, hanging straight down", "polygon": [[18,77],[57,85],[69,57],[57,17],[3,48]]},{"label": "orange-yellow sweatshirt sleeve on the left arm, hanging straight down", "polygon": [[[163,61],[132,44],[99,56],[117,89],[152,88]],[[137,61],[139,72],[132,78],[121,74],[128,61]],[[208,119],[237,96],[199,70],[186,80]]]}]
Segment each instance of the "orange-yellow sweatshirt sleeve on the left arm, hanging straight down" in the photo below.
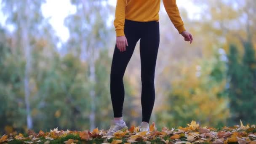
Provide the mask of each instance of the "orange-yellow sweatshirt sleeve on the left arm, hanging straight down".
[{"label": "orange-yellow sweatshirt sleeve on the left arm, hanging straight down", "polygon": [[117,0],[117,5],[115,9],[115,31],[117,37],[124,36],[124,23],[125,23],[125,5],[126,0]]}]

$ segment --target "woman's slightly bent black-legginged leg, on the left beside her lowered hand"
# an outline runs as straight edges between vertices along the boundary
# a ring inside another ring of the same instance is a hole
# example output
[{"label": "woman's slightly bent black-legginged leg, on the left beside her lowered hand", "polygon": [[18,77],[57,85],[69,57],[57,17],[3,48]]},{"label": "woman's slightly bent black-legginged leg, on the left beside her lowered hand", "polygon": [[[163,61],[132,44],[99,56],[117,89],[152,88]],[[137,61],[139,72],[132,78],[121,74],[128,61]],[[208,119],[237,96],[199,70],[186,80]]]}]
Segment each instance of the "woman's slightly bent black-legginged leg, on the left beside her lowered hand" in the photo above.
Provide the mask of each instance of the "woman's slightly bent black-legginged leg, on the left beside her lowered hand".
[{"label": "woman's slightly bent black-legginged leg, on the left beside her lowered hand", "polygon": [[125,20],[124,32],[128,42],[126,51],[120,52],[117,45],[115,45],[110,74],[110,94],[114,117],[123,116],[123,102],[125,96],[123,75],[131,59],[136,43],[139,40],[138,30],[136,28],[136,22]]}]

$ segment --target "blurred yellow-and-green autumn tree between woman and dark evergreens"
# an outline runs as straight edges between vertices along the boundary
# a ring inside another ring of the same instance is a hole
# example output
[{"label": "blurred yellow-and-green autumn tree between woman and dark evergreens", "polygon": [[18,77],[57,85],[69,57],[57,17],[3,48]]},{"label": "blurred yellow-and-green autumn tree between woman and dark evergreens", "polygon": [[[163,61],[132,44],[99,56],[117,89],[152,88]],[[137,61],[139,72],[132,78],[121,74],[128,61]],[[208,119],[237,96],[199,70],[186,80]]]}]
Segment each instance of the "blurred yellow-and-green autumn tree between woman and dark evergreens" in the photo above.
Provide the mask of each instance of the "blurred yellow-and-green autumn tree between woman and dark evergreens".
[{"label": "blurred yellow-and-green autumn tree between woman and dark evergreens", "polygon": [[214,57],[202,59],[190,67],[181,67],[181,75],[171,82],[165,110],[157,115],[158,125],[186,126],[192,120],[201,125],[226,124],[229,116],[225,90],[225,61],[215,50]]}]

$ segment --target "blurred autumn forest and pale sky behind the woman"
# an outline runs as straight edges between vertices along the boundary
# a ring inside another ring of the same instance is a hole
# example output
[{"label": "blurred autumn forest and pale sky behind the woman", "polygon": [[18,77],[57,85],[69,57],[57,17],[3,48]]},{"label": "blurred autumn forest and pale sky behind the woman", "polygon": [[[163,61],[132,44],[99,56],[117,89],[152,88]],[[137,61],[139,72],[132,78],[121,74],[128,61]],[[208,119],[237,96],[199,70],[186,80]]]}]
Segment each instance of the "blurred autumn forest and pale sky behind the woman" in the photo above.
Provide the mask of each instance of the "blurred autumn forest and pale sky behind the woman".
[{"label": "blurred autumn forest and pale sky behind the woman", "polygon": [[[0,134],[109,129],[116,0],[0,0]],[[256,0],[177,0],[192,44],[160,8],[158,130],[192,120],[256,124]],[[139,43],[139,42],[138,42]],[[125,71],[123,119],[142,120],[139,45]]]}]

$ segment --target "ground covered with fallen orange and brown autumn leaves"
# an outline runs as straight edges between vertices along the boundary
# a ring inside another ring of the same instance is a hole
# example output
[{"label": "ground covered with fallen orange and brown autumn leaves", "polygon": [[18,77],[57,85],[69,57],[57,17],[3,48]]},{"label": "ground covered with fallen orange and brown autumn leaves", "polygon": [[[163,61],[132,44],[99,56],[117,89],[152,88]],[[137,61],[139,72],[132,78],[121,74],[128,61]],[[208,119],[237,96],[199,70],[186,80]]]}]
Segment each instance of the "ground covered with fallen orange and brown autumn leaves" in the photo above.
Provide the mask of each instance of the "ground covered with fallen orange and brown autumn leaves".
[{"label": "ground covered with fallen orange and brown autumn leaves", "polygon": [[1,144],[256,144],[256,125],[240,125],[223,128],[201,127],[192,121],[185,128],[157,130],[150,125],[149,134],[139,132],[139,126],[131,126],[126,131],[117,131],[114,136],[105,136],[107,130],[50,132],[29,130],[26,134],[10,133],[0,138]]}]

